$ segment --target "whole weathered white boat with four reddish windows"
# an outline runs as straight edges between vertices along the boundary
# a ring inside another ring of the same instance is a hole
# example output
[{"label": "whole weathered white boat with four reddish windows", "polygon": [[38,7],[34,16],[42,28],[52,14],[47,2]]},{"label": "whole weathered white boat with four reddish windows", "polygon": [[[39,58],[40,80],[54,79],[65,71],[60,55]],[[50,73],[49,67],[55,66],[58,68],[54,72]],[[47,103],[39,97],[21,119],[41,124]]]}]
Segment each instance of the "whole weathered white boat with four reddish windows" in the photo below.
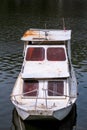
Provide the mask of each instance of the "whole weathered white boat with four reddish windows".
[{"label": "whole weathered white boat with four reddish windows", "polygon": [[23,119],[64,119],[77,99],[71,30],[29,29],[11,101]]}]

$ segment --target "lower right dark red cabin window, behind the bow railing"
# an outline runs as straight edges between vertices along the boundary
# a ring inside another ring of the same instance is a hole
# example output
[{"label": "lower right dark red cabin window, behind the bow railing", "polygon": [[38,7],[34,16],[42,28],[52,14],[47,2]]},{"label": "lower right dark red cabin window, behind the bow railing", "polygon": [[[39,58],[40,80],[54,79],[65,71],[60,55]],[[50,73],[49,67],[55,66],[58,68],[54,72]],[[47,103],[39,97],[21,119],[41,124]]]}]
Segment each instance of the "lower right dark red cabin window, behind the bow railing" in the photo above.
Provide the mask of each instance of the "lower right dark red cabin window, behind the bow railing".
[{"label": "lower right dark red cabin window, behind the bow railing", "polygon": [[63,81],[48,81],[48,96],[63,96],[64,82]]}]

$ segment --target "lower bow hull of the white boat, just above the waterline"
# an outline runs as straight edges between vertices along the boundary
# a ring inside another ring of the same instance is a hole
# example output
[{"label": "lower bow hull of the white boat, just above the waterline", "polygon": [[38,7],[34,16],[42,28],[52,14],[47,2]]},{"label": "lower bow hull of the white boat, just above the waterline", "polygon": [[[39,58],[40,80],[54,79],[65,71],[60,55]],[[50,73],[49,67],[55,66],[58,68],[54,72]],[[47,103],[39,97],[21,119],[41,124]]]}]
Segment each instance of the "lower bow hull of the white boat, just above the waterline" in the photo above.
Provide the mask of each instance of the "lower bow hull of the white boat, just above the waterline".
[{"label": "lower bow hull of the white boat, just above the waterline", "polygon": [[39,120],[39,119],[57,119],[57,120],[63,120],[71,111],[72,105],[69,105],[68,107],[62,108],[60,110],[56,111],[41,111],[41,110],[33,110],[33,111],[25,111],[23,109],[20,109],[16,107],[16,110],[18,112],[18,115],[23,120]]}]

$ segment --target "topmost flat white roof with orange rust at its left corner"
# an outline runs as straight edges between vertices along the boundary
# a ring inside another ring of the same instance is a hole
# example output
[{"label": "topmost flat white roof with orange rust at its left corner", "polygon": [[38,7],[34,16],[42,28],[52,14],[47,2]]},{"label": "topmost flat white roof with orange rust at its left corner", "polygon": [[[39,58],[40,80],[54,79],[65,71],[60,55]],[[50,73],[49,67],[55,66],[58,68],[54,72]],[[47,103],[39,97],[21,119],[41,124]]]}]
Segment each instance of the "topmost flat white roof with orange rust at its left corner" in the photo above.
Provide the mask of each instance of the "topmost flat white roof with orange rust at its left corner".
[{"label": "topmost flat white roof with orange rust at its left corner", "polygon": [[29,29],[21,40],[23,41],[66,41],[71,39],[71,30]]}]

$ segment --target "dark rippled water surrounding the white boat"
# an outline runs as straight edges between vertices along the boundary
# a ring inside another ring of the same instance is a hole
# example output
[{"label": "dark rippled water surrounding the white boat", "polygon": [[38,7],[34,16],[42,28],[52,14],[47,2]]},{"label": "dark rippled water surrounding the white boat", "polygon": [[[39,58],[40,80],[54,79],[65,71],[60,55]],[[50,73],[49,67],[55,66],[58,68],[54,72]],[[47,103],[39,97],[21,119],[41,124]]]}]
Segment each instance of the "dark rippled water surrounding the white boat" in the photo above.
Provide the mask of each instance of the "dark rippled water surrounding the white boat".
[{"label": "dark rippled water surrounding the white boat", "polygon": [[[74,125],[76,130],[87,130],[87,0],[0,1],[0,130],[21,130],[19,124],[13,127],[14,106],[10,101],[23,60],[21,36],[27,29],[45,28],[45,24],[47,28],[62,29],[63,17],[66,29],[72,30],[72,63],[78,80]],[[72,124],[67,123],[70,120],[58,123],[55,129],[73,130]],[[26,130],[43,129],[23,124]]]}]

